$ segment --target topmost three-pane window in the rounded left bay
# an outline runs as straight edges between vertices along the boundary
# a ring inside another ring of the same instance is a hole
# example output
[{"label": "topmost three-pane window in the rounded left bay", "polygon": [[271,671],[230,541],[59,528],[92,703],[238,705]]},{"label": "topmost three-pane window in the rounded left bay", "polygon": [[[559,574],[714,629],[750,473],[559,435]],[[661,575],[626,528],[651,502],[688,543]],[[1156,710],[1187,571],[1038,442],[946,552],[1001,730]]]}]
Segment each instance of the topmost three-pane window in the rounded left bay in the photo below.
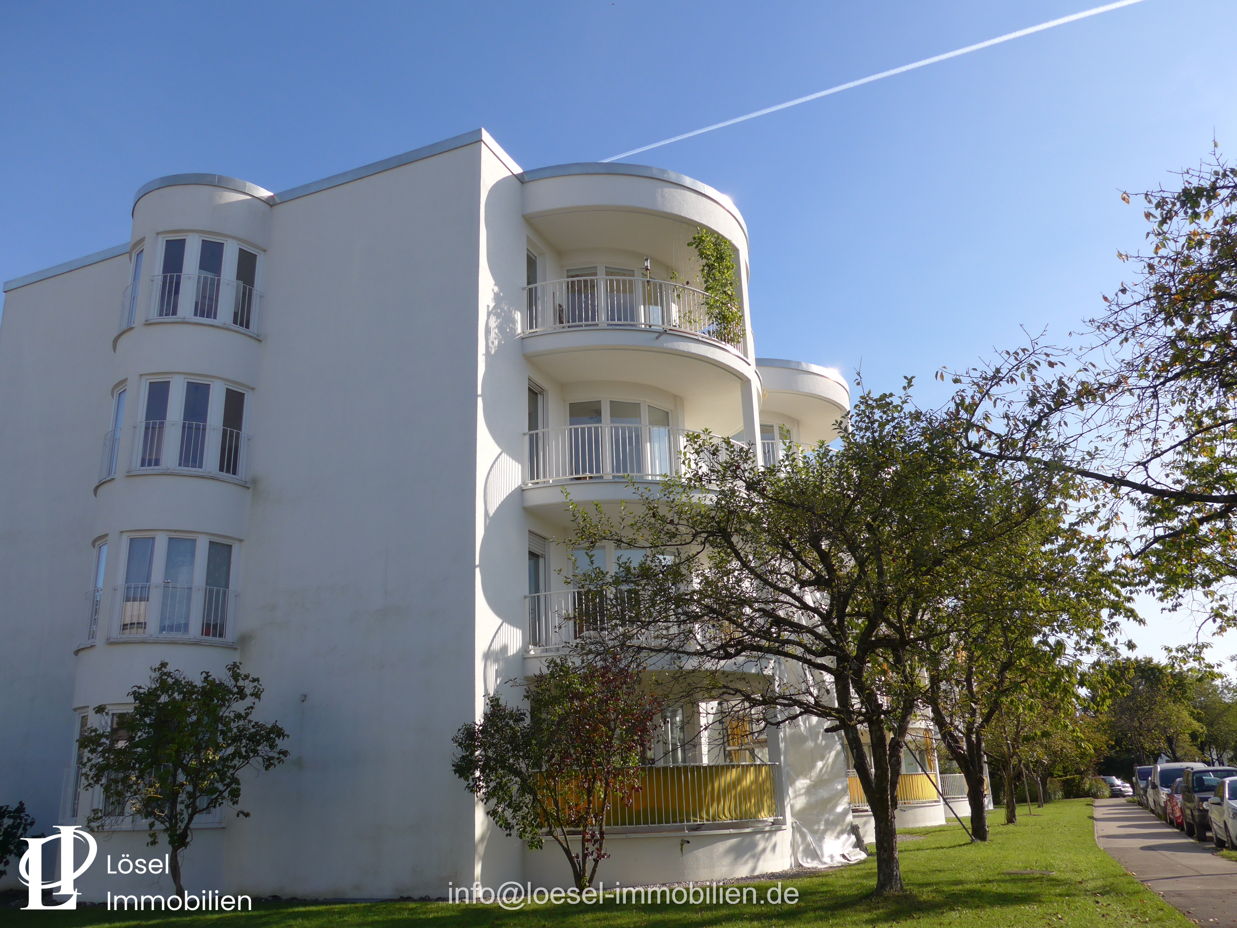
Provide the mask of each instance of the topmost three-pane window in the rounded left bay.
[{"label": "topmost three-pane window in the rounded left bay", "polygon": [[[152,319],[192,319],[252,333],[256,328],[259,256],[239,243],[204,235],[165,239]],[[195,260],[188,273],[186,261]],[[229,269],[231,276],[226,276]],[[182,288],[186,299],[182,301]],[[188,294],[193,296],[192,306]],[[182,304],[183,303],[183,304]]]}]

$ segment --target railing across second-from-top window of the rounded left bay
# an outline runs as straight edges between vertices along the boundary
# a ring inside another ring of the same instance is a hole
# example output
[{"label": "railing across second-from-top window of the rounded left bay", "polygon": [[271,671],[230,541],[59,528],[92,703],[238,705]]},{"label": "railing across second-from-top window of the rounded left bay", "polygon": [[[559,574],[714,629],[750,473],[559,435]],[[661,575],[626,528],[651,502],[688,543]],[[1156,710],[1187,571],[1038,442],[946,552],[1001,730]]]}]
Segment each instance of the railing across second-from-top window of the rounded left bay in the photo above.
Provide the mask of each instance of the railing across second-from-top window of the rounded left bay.
[{"label": "railing across second-from-top window of the rounded left bay", "polygon": [[129,473],[160,471],[247,484],[249,436],[205,422],[139,422],[134,426]]}]

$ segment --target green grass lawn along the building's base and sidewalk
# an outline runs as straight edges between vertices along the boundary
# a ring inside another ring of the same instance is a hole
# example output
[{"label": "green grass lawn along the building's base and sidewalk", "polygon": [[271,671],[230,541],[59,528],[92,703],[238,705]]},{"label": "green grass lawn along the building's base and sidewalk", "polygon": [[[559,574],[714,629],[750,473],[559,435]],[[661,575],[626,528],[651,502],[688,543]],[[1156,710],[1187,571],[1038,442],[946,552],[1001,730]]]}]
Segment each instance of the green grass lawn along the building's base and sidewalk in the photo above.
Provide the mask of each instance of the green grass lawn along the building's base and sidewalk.
[{"label": "green grass lawn along the building's base and sidewalk", "polygon": [[[785,885],[799,890],[795,906],[531,906],[503,912],[497,906],[444,902],[382,902],[374,904],[260,904],[251,913],[209,916],[141,914],[87,908],[78,912],[20,912],[0,914],[5,924],[90,926],[158,922],[176,928],[190,926],[251,926],[252,928],[471,928],[511,926],[886,926],[922,928],[1008,928],[1021,926],[1190,926],[1184,916],[1126,874],[1095,843],[1090,799],[1055,802],[1035,815],[1021,810],[1018,824],[997,824],[992,840],[969,844],[957,825],[914,829],[923,835],[902,848],[902,875],[907,895],[897,900],[868,898],[876,881],[876,861]],[[549,854],[550,851],[544,851]],[[557,853],[557,849],[554,850]],[[1051,876],[1009,875],[1007,870],[1051,870]],[[599,877],[605,877],[605,864]],[[762,885],[756,880],[751,885]],[[763,886],[763,885],[762,885]],[[764,890],[760,891],[764,897]]]}]

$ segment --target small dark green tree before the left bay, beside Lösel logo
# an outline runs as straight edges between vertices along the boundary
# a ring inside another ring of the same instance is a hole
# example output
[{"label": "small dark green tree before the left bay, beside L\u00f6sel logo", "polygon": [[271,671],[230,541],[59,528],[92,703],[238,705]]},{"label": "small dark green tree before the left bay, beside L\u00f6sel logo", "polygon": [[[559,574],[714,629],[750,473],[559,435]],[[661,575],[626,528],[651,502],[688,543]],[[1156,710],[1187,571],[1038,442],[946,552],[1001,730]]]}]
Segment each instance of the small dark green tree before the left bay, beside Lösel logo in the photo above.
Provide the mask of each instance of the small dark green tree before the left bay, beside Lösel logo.
[{"label": "small dark green tree before the left bay, beside L\u00f6sel logo", "polygon": [[[78,741],[84,787],[101,787],[103,808],[88,819],[92,829],[120,817],[145,819],[151,846],[160,833],[171,850],[176,892],[184,897],[181,859],[203,815],[240,802],[240,772],[273,770],[288,752],[280,747],[287,733],[276,723],[254,719],[262,698],[256,677],[228,664],[226,677],[207,671],[195,682],[167,661],[151,668],[148,685],[129,692],[134,705],[124,713],[95,707],[105,723]],[[249,818],[236,808],[236,815]]]}]

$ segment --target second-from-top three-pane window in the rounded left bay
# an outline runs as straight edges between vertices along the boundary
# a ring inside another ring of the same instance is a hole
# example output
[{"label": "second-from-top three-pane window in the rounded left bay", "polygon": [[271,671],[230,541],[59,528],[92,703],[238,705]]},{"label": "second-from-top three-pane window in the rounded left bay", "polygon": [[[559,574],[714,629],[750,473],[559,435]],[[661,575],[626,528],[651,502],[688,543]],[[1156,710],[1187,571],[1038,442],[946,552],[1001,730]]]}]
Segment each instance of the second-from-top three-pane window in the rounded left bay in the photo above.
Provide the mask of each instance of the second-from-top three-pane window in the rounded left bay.
[{"label": "second-from-top three-pane window in the rounded left bay", "polygon": [[[221,381],[179,376],[146,381],[145,390],[131,471],[249,479],[245,391]],[[176,419],[168,418],[171,410],[178,412]]]}]

